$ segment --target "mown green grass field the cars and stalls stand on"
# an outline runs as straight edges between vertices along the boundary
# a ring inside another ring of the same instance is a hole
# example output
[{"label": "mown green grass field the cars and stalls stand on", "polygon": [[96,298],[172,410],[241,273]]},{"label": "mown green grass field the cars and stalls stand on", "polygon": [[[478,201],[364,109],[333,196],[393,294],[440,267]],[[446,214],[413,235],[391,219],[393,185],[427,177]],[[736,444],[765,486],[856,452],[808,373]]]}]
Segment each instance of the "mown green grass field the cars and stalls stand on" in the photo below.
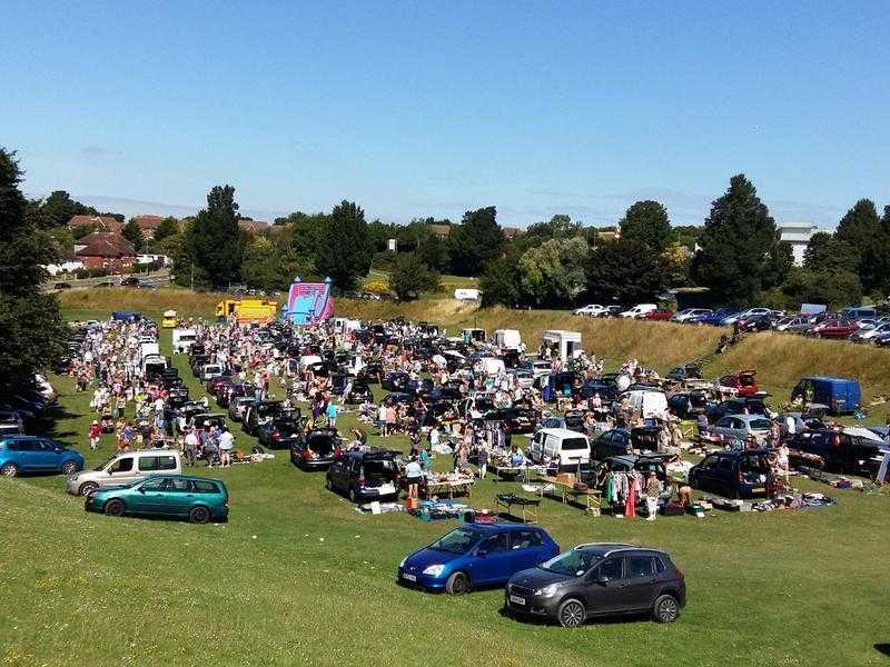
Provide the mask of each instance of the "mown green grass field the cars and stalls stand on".
[{"label": "mown green grass field the cars and stalls stand on", "polygon": [[[169,354],[169,332],[161,342]],[[186,359],[175,364],[200,394]],[[50,428],[88,450],[88,398],[72,394],[67,378],[57,385]],[[342,428],[350,424],[342,418]],[[249,447],[235,432],[236,445]],[[89,464],[111,448],[103,442]],[[452,522],[360,516],[324,489],[323,476],[293,468],[286,452],[211,472],[231,491],[225,525],[87,515],[58,477],[0,479],[2,664],[887,664],[879,650],[890,643],[887,496],[829,489],[834,508],[655,524],[592,519],[545,500],[541,524],[562,546],[622,540],[668,549],[690,593],[672,626],[631,619],[565,631],[501,616],[496,590],[449,598],[397,587],[399,559]],[[485,481],[473,504],[490,505],[497,488],[513,485]]]}]

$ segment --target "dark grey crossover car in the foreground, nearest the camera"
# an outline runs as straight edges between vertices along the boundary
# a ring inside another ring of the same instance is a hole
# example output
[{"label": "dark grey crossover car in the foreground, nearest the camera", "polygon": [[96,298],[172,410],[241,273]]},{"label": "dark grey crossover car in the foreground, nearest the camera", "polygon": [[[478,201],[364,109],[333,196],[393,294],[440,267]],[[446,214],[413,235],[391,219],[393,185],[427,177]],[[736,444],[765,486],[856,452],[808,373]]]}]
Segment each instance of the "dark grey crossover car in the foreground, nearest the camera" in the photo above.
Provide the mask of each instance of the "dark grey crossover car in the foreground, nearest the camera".
[{"label": "dark grey crossover car in the foreground, nearest the camera", "polygon": [[685,604],[685,579],[671,557],[632,545],[577,546],[515,574],[504,590],[508,614],[551,618],[563,627],[626,614],[672,623]]}]

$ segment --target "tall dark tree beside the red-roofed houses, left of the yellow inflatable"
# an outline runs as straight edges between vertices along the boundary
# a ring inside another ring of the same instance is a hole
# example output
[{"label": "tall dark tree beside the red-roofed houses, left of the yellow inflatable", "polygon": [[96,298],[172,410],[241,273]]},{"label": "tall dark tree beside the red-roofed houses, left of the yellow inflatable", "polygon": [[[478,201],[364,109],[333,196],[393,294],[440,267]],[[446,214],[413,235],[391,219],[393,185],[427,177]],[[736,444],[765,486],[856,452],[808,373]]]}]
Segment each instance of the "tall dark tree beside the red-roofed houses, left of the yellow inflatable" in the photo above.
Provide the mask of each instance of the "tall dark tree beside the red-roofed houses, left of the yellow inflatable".
[{"label": "tall dark tree beside the red-roofed houses, left of the yellow inflatable", "polygon": [[194,268],[196,285],[227,287],[236,282],[244,243],[235,188],[214,187],[207,195],[207,208],[187,228],[186,250],[191,267],[177,267],[177,279],[189,281]]}]

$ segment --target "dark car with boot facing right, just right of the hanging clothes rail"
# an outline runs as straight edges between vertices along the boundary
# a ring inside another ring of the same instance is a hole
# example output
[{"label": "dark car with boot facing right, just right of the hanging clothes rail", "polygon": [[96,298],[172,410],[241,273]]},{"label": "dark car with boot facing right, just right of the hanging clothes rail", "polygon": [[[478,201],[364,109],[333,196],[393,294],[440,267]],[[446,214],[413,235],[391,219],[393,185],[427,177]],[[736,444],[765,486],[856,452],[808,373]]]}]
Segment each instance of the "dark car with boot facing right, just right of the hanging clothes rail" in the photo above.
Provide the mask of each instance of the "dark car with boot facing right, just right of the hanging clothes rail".
[{"label": "dark car with boot facing right, just right of the hanging clothes rail", "polygon": [[769,449],[715,451],[689,471],[692,488],[726,498],[752,498],[767,492]]}]

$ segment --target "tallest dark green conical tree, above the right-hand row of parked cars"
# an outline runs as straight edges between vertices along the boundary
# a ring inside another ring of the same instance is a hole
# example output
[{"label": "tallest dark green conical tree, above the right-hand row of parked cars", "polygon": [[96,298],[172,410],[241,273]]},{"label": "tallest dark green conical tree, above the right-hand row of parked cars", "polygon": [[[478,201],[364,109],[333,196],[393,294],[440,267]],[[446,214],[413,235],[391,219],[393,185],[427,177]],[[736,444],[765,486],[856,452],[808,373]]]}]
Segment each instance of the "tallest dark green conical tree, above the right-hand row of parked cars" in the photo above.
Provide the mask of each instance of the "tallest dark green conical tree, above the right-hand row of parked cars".
[{"label": "tallest dark green conical tree, above the right-hand row of parked cars", "polygon": [[744,306],[781,280],[775,221],[744,175],[733,176],[716,199],[699,238],[701,250],[692,268],[699,285],[709,287],[715,303]]}]

